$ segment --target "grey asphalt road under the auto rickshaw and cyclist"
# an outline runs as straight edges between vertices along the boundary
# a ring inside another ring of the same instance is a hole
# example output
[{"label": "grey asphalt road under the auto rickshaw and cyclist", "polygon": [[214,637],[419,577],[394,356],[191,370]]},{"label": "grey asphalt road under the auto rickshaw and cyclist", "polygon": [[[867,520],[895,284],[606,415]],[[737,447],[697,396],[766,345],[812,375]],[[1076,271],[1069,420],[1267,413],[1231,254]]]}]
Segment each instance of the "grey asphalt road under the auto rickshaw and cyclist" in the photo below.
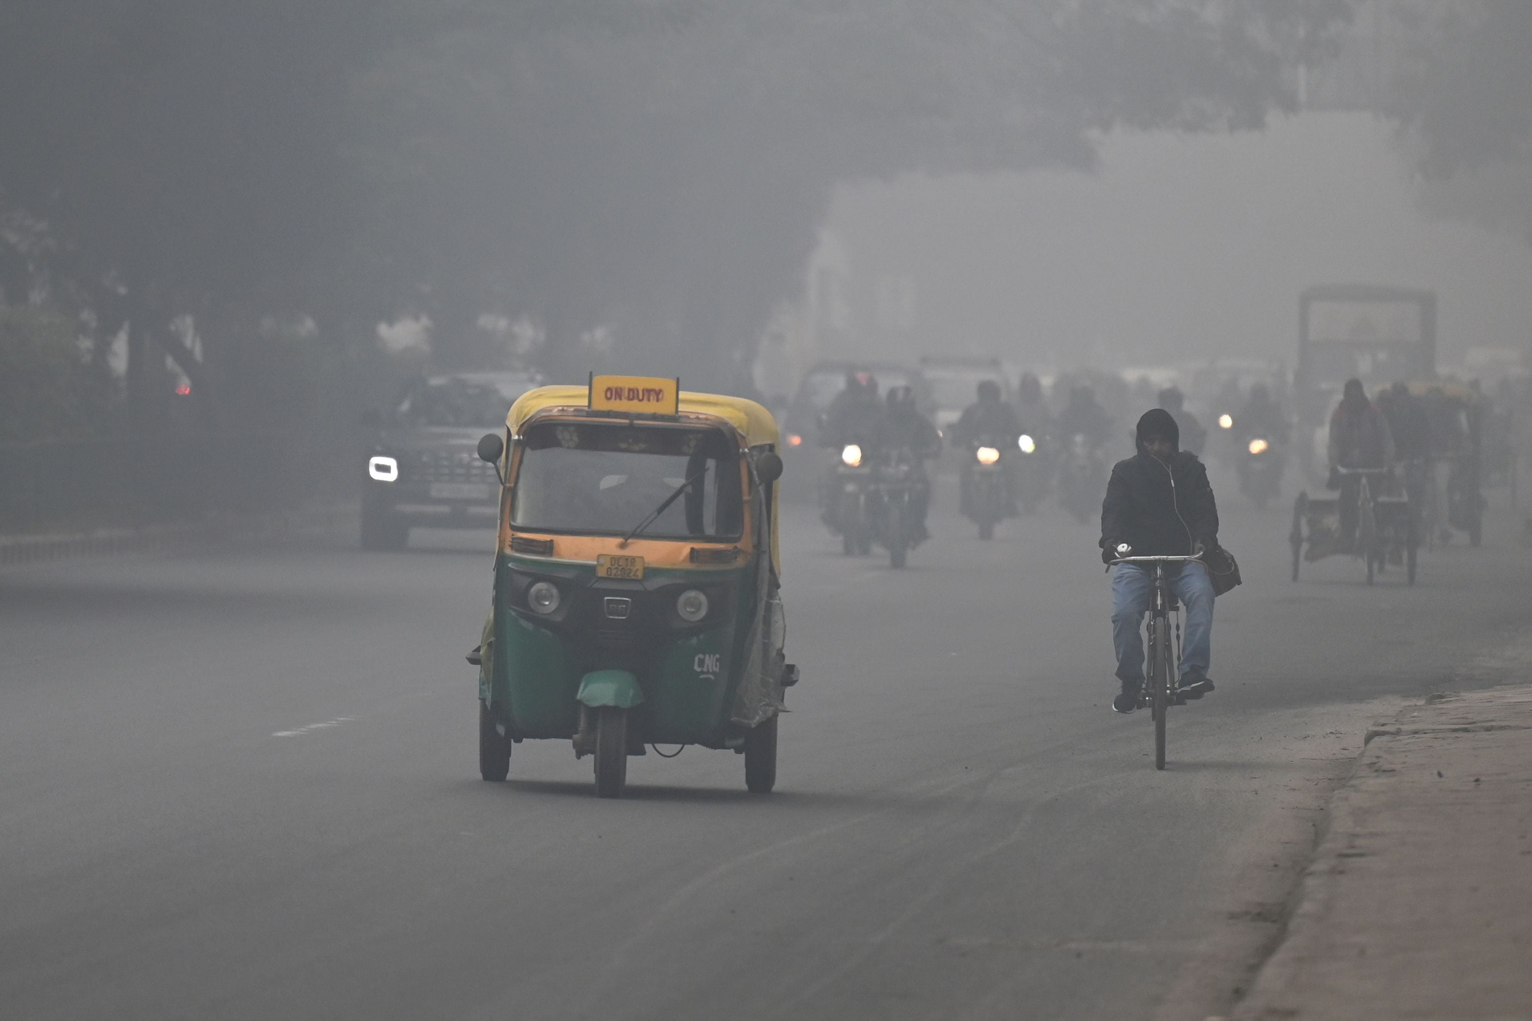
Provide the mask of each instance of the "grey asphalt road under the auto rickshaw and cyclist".
[{"label": "grey asphalt road under the auto rickshaw and cyclist", "polygon": [[[6,1018],[1207,1016],[1270,943],[1379,703],[1494,680],[1526,554],[1247,583],[1218,692],[1108,710],[1094,533],[950,516],[907,571],[786,514],[778,788],[738,756],[475,759],[486,536],[0,574]],[[1201,1013],[1195,1013],[1201,1010]]]}]

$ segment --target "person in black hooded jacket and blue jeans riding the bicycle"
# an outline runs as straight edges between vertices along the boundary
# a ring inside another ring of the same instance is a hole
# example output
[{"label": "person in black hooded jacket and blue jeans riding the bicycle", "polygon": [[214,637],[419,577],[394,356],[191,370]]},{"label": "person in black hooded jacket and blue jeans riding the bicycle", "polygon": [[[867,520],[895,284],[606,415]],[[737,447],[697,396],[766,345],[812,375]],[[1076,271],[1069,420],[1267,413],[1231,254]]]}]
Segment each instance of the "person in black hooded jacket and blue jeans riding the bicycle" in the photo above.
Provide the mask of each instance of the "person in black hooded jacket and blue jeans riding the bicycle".
[{"label": "person in black hooded jacket and blue jeans riding the bicycle", "polygon": [[[1135,430],[1138,453],[1112,467],[1102,501],[1102,560],[1121,556],[1195,556],[1218,546],[1218,505],[1207,468],[1189,450],[1178,450],[1180,427],[1166,409],[1151,409]],[[1181,693],[1201,698],[1213,690],[1213,582],[1201,563],[1167,565],[1177,597],[1186,606]],[[1112,568],[1112,646],[1121,692],[1112,709],[1132,712],[1144,681],[1140,628],[1149,611],[1152,574],[1144,565]]]}]

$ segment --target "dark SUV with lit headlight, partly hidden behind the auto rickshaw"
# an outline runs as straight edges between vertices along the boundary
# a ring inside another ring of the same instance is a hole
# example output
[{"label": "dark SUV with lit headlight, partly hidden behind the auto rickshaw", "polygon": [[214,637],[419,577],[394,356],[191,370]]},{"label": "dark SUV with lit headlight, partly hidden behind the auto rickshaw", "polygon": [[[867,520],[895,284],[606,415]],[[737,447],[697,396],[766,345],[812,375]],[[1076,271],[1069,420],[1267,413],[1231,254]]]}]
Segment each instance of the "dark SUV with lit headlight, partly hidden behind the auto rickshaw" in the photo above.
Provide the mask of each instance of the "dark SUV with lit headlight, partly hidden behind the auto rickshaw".
[{"label": "dark SUV with lit headlight, partly hidden behind the auto rickshaw", "polygon": [[403,550],[409,530],[492,528],[499,514],[495,468],[480,436],[504,429],[518,396],[542,384],[533,372],[461,372],[404,386],[375,426],[362,471],[362,548]]}]

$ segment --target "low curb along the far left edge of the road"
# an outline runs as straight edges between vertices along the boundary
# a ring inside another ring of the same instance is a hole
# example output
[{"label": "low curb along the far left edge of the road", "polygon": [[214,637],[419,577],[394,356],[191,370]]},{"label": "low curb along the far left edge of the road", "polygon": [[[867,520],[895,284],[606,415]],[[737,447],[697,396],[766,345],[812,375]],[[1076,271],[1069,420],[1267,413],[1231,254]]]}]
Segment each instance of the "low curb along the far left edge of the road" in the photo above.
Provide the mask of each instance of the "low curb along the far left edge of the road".
[{"label": "low curb along the far left edge of the road", "polygon": [[156,553],[207,543],[245,543],[305,534],[340,534],[354,531],[358,516],[360,511],[355,505],[325,505],[280,516],[230,516],[179,525],[101,528],[52,536],[0,536],[0,568],[129,553]]}]

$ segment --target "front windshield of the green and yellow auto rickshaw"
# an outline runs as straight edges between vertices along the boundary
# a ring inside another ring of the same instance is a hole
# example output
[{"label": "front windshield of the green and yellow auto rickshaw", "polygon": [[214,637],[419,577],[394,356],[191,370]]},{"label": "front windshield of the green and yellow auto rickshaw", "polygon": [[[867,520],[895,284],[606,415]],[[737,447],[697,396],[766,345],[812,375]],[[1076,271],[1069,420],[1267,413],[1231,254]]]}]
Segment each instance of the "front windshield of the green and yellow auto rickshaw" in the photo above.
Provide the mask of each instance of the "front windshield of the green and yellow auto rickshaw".
[{"label": "front windshield of the green and yellow auto rickshaw", "polygon": [[521,439],[513,528],[624,536],[686,479],[648,539],[735,542],[743,531],[740,453],[714,429],[541,422]]}]

